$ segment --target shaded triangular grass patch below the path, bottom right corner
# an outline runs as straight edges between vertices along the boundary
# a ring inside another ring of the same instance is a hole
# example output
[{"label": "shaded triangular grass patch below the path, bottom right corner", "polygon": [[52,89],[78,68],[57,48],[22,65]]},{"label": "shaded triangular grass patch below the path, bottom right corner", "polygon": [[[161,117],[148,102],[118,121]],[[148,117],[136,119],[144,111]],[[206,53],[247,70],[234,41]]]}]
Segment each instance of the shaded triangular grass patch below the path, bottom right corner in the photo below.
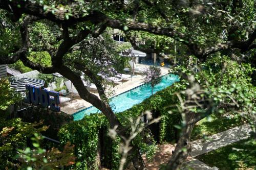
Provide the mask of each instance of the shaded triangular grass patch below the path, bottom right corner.
[{"label": "shaded triangular grass patch below the path, bottom right corner", "polygon": [[256,169],[256,141],[241,140],[197,158],[209,166],[216,166],[221,170],[253,170]]}]

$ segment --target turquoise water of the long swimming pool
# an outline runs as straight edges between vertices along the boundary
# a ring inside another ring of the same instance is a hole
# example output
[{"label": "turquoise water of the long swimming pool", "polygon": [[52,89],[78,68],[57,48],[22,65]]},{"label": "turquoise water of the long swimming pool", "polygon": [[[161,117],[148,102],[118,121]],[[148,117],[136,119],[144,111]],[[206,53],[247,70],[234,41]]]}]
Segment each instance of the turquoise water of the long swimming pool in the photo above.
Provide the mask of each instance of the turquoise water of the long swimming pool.
[{"label": "turquoise water of the long swimming pool", "polygon": [[[167,86],[172,85],[174,82],[179,81],[179,77],[177,75],[168,74],[161,77],[161,81],[157,84],[154,89],[153,93],[155,94],[157,91],[160,91]],[[122,112],[124,110],[130,109],[136,104],[141,103],[145,99],[151,96],[151,85],[146,83],[135,87],[129,91],[123,92],[119,95],[114,96],[111,98],[110,105],[115,112]],[[84,117],[84,115],[89,115],[91,113],[99,113],[100,111],[91,106],[89,108],[80,110],[73,114],[74,120],[80,120]]]}]

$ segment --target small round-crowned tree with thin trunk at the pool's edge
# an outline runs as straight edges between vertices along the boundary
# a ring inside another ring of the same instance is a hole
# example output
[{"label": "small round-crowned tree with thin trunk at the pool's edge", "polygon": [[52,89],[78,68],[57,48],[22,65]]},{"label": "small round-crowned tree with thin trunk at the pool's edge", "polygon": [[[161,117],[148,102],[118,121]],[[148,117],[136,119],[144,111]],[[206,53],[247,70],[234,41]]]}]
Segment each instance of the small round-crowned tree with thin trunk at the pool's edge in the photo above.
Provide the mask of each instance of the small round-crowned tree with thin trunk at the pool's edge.
[{"label": "small round-crowned tree with thin trunk at the pool's edge", "polygon": [[144,82],[151,83],[151,93],[153,95],[153,88],[155,85],[160,83],[161,69],[157,66],[150,66],[145,68],[142,73],[142,77],[144,78]]}]

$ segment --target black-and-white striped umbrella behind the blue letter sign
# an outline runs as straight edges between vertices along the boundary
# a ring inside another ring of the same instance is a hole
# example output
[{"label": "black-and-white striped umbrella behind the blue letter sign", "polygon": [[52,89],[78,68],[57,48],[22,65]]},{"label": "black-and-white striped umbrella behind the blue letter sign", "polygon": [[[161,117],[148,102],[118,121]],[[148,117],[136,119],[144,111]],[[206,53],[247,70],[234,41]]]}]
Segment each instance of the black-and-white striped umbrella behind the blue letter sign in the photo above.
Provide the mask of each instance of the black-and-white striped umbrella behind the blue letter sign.
[{"label": "black-and-white striped umbrella behind the blue letter sign", "polygon": [[39,80],[39,79],[21,78],[21,79],[11,82],[10,85],[12,88],[15,88],[16,91],[25,91],[26,85],[33,85],[36,87],[41,87],[41,86],[45,85],[45,81]]}]

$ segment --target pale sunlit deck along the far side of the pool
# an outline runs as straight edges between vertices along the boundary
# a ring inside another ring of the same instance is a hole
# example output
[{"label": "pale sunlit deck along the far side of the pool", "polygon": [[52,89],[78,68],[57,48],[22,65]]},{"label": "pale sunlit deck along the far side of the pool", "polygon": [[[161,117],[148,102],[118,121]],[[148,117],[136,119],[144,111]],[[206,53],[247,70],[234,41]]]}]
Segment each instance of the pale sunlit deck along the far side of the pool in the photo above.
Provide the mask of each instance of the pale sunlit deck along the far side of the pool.
[{"label": "pale sunlit deck along the far side of the pool", "polygon": [[[140,65],[141,67],[146,66],[146,65],[143,65],[143,64],[138,64],[138,65]],[[168,71],[169,68],[166,68],[166,67],[160,67],[160,68],[161,68],[161,71],[162,71],[162,76],[169,73],[169,71]],[[118,94],[123,93],[127,90],[131,90],[131,89],[133,89],[133,88],[135,88],[135,87],[144,83],[144,79],[142,78],[141,75],[138,75],[138,74],[135,74],[135,76],[133,76],[132,79],[129,78],[127,80],[128,80],[127,82],[118,84],[114,88],[112,88],[112,90],[114,91],[114,94],[112,96],[118,95]],[[91,91],[91,92],[93,92],[93,91]],[[99,94],[97,92],[93,92],[93,93],[95,95],[99,96]],[[110,96],[110,97],[112,97],[112,96]],[[75,100],[73,100],[71,102],[66,102],[63,105],[60,104],[59,105],[60,110],[62,112],[68,113],[68,114],[73,114],[73,113],[75,113],[79,110],[82,110],[82,109],[85,109],[85,108],[88,108],[88,107],[92,106],[92,104],[90,104],[89,102],[84,101],[79,96],[74,96],[74,99]]]}]

